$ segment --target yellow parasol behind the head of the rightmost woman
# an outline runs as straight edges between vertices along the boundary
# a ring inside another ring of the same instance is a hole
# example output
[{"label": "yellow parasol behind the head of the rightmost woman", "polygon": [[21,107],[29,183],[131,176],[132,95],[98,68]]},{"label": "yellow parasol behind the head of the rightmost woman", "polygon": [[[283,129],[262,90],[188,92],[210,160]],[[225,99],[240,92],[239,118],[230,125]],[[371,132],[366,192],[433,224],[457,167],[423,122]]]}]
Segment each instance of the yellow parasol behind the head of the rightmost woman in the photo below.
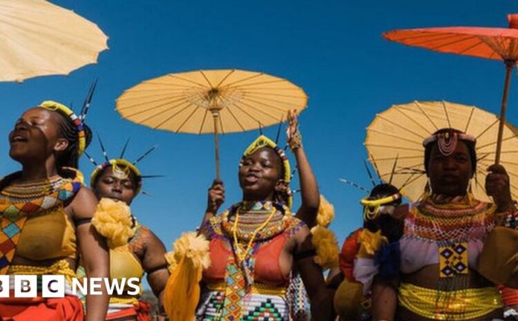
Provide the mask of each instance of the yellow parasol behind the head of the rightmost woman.
[{"label": "yellow parasol behind the head of the rightmost woman", "polygon": [[[477,172],[471,186],[479,200],[489,200],[484,188],[486,169],[495,163],[495,145],[499,117],[474,106],[448,101],[414,101],[388,108],[367,127],[365,146],[370,162],[379,175],[392,184],[404,186],[403,195],[412,201],[421,197],[427,182],[424,173],[423,140],[441,128],[456,128],[477,138]],[[506,167],[511,183],[518,177],[518,129],[506,123],[503,127],[501,164]],[[511,184],[513,199],[518,186]]]}]

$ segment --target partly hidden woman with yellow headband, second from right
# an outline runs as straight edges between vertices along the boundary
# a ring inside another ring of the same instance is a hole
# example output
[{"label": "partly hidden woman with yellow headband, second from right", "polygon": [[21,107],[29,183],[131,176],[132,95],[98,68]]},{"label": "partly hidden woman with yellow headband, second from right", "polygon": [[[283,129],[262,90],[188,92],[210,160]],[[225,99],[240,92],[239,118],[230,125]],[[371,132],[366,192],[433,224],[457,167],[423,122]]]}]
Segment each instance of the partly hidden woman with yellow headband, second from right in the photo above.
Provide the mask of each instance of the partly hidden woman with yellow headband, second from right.
[{"label": "partly hidden woman with yellow headband, second from right", "polygon": [[393,259],[402,222],[392,217],[401,204],[399,188],[378,184],[361,204],[363,227],[347,237],[340,253],[340,269],[332,271],[327,279],[337,288],[334,309],[343,321],[372,320],[370,289],[374,275],[386,278],[399,269],[399,262]]}]

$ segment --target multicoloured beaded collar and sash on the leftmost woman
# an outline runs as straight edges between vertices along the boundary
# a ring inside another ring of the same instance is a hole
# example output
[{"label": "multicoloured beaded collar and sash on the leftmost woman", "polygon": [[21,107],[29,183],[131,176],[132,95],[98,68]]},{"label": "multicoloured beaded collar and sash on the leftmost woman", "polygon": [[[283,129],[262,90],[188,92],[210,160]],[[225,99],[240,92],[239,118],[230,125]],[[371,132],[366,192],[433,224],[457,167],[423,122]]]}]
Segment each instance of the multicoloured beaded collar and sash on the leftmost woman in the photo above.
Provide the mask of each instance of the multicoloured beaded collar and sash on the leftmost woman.
[{"label": "multicoloured beaded collar and sash on the leftmost woman", "polygon": [[[6,179],[11,181],[19,175],[16,173]],[[78,179],[55,177],[3,188],[0,192],[0,274],[8,272],[27,217],[62,206],[80,187]]]}]

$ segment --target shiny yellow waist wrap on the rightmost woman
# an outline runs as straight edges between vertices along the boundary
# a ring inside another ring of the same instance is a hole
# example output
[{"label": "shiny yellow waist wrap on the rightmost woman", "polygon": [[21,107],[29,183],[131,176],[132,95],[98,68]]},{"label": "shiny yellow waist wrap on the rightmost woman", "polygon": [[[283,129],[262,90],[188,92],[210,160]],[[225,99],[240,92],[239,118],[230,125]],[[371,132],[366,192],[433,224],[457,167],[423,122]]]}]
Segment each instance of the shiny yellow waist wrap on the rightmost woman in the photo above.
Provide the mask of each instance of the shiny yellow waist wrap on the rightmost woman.
[{"label": "shiny yellow waist wrap on the rightmost woman", "polygon": [[432,320],[473,320],[503,307],[495,287],[458,291],[437,291],[401,283],[399,305]]}]

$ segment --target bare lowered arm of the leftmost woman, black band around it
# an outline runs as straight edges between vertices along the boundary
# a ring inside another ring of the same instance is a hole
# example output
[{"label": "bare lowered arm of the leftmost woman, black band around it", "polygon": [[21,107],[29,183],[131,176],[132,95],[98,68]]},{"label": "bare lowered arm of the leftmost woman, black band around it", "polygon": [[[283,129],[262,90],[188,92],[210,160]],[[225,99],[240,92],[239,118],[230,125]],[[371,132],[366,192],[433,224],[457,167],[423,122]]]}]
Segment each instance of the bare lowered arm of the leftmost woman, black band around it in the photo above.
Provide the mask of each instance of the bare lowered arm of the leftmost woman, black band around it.
[{"label": "bare lowered arm of the leftmost woman, black band around it", "polygon": [[[81,188],[70,204],[75,222],[91,219],[96,205],[97,198],[93,192],[86,187]],[[88,278],[108,278],[110,261],[104,237],[97,233],[90,222],[77,226],[76,233]],[[104,321],[106,318],[108,292],[104,281],[101,291],[102,295],[86,295],[86,321]]]}]

